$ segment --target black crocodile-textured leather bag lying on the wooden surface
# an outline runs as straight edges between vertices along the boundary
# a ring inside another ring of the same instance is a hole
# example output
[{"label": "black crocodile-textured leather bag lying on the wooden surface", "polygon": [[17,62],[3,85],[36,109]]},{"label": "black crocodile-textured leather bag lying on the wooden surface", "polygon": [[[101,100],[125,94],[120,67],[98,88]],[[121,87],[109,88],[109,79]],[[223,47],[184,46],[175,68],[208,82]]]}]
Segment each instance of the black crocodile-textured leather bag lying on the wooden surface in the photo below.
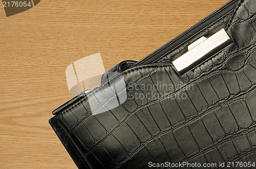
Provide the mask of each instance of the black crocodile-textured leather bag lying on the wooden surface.
[{"label": "black crocodile-textured leather bag lying on the wooden surface", "polygon": [[[54,110],[49,123],[77,167],[255,166],[255,13],[255,0],[230,1]],[[221,30],[227,40],[202,55]],[[202,57],[176,63],[186,55]]]}]

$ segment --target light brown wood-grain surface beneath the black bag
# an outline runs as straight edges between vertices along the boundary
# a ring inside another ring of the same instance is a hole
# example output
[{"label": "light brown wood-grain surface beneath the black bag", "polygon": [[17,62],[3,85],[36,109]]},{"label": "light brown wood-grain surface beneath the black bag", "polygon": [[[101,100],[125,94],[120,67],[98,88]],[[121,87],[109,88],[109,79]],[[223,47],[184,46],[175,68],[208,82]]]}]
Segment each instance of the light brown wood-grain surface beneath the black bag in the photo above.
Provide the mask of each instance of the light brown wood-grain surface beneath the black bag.
[{"label": "light brown wood-grain surface beneath the black bag", "polygon": [[65,69],[101,53],[105,69],[140,60],[227,0],[49,1],[0,7],[0,168],[76,168],[48,124],[73,96]]}]

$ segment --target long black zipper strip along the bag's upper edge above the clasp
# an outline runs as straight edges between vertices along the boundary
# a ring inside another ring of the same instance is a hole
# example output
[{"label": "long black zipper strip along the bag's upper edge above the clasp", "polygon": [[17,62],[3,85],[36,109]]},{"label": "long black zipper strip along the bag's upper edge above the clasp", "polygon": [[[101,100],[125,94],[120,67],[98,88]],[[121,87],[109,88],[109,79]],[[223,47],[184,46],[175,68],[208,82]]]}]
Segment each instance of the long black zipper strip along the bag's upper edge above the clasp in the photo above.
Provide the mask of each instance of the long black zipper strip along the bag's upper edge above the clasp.
[{"label": "long black zipper strip along the bag's upper edge above the clasp", "polygon": [[218,10],[216,10],[215,12],[209,14],[208,16],[206,16],[205,18],[203,18],[202,20],[200,20],[199,22],[197,22],[194,26],[188,28],[186,31],[184,31],[183,33],[181,33],[180,35],[178,35],[177,37],[175,37],[174,39],[170,40],[169,42],[167,42],[166,44],[164,44],[163,46],[161,46],[158,50],[156,50],[155,52],[151,53],[150,55],[144,57],[143,59],[141,59],[140,61],[138,61],[134,66],[138,66],[141,63],[145,62],[146,60],[152,58],[154,55],[156,55],[157,53],[159,53],[160,51],[164,50],[166,47],[168,47],[170,44],[174,43],[175,41],[177,41],[178,39],[180,39],[182,36],[186,35],[188,32],[192,31],[193,29],[195,29],[196,27],[198,27],[199,25],[201,25],[203,22],[205,22],[206,20],[210,19],[211,17],[215,16],[216,14],[220,13],[222,10],[226,9],[227,7],[229,7],[230,5],[232,5],[233,3],[237,2],[238,0],[232,0],[230,2],[228,2],[226,5],[222,6],[221,8],[219,8]]}]

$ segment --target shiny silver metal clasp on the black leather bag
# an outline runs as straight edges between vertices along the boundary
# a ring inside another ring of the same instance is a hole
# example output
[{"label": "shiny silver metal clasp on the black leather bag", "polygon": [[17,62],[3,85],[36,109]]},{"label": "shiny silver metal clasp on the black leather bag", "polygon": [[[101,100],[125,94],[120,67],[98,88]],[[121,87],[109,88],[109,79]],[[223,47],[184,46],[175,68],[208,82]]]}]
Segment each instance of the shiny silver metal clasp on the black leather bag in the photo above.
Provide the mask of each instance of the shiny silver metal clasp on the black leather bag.
[{"label": "shiny silver metal clasp on the black leather bag", "polygon": [[226,31],[221,29],[210,37],[201,37],[188,46],[188,51],[173,61],[173,65],[180,75],[186,74],[191,69],[224,50],[232,43]]}]

